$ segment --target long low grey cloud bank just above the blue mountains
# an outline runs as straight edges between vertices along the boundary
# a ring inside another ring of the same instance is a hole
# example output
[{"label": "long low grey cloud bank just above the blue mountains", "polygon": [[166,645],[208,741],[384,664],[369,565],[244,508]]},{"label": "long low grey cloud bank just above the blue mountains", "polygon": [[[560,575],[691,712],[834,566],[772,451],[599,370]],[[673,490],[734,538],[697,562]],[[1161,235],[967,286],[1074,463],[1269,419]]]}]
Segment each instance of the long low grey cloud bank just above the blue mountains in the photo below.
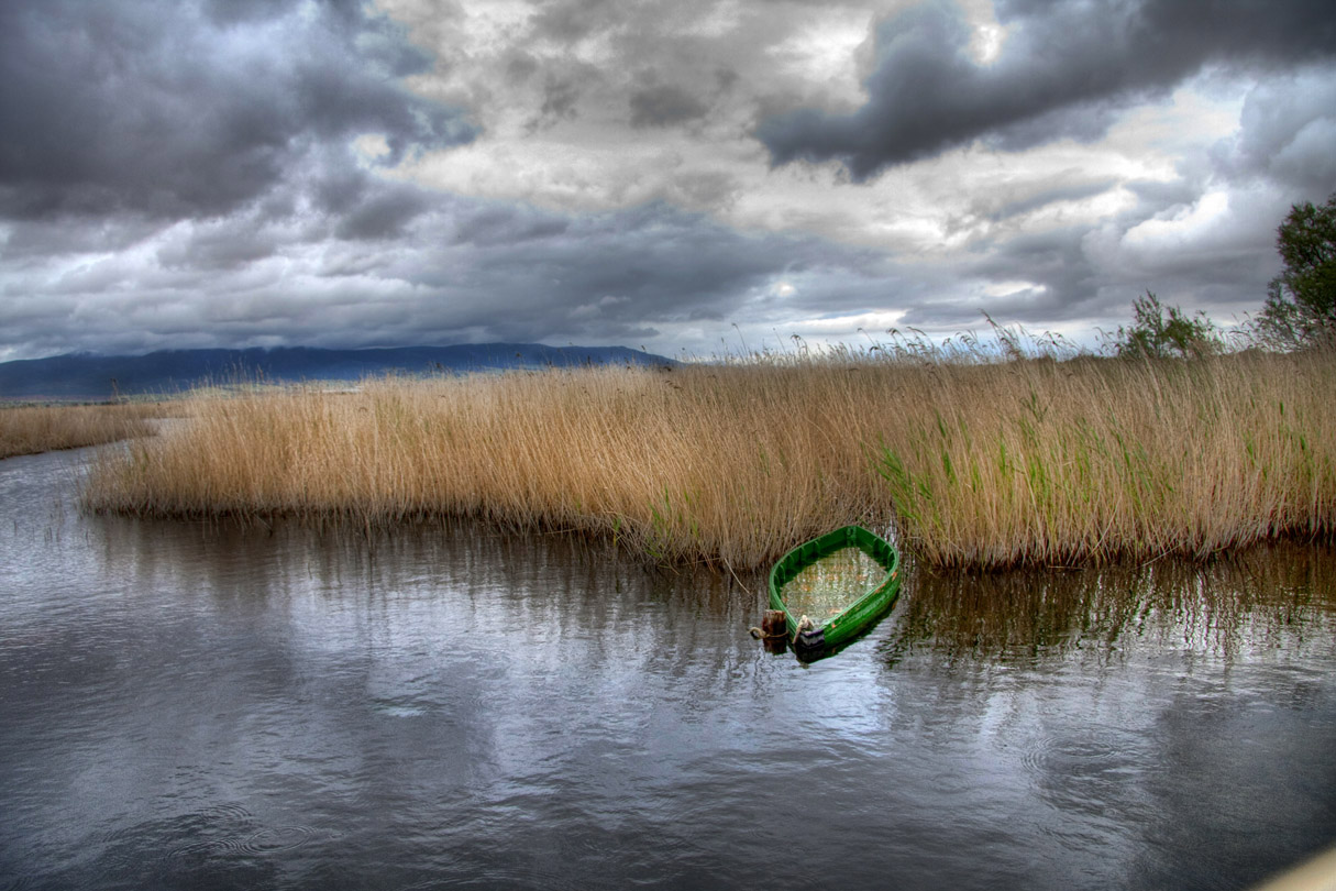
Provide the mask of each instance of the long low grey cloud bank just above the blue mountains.
[{"label": "long low grey cloud bank just above the blue mountains", "polygon": [[788,274],[824,275],[826,297],[866,303],[866,290],[846,287],[848,275],[880,262],[814,236],[741,234],[661,203],[566,215],[460,196],[441,196],[381,242],[337,240],[318,222],[267,223],[258,211],[159,239],[152,263],[112,255],[13,289],[23,297],[0,302],[8,342],[23,343],[25,355],[468,341],[640,346],[684,325],[727,331]]}]

